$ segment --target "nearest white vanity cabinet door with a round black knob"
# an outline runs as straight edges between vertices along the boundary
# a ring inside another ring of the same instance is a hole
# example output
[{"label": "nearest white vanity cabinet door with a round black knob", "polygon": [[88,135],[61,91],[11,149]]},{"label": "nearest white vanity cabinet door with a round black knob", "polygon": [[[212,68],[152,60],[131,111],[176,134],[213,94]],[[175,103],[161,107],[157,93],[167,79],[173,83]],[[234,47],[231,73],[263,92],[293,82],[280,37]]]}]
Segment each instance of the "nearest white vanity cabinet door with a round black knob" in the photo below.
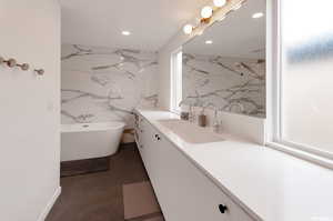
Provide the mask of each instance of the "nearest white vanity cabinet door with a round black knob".
[{"label": "nearest white vanity cabinet door with a round black knob", "polygon": [[154,189],[167,221],[253,221],[164,137],[153,152]]}]

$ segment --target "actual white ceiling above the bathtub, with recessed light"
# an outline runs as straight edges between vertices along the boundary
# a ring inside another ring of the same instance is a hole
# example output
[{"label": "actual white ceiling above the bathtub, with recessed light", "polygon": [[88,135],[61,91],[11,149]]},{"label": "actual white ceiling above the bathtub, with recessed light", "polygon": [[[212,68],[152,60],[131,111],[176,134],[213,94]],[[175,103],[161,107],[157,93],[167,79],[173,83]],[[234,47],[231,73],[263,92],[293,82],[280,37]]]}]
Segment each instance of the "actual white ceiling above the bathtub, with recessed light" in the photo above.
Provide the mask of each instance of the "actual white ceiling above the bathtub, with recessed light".
[{"label": "actual white ceiling above the bathtub, with recessed light", "polygon": [[[60,0],[62,42],[155,51],[198,14],[205,2],[208,0]],[[123,30],[132,34],[124,37]]]}]

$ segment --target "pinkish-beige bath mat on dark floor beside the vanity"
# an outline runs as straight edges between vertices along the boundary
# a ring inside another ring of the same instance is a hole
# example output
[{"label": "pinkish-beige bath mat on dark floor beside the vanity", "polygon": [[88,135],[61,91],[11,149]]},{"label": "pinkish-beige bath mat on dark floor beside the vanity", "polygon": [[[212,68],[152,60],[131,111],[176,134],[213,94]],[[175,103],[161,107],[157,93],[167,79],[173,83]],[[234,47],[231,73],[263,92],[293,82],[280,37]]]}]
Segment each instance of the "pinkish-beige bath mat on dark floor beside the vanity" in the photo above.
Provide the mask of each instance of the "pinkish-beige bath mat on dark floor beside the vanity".
[{"label": "pinkish-beige bath mat on dark floor beside the vanity", "polygon": [[124,184],[122,191],[125,220],[161,211],[150,182]]}]

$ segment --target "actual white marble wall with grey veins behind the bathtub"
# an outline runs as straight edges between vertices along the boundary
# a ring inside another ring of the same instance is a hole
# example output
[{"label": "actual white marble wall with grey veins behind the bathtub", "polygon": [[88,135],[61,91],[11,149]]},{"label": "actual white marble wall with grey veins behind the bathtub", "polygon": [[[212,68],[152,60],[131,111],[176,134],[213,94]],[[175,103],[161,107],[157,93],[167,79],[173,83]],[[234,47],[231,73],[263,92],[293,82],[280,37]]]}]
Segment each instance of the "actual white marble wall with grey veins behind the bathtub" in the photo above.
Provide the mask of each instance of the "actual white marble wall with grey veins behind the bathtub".
[{"label": "actual white marble wall with grey veins behind the bathtub", "polygon": [[158,106],[157,53],[63,44],[61,121],[125,121],[135,107]]}]

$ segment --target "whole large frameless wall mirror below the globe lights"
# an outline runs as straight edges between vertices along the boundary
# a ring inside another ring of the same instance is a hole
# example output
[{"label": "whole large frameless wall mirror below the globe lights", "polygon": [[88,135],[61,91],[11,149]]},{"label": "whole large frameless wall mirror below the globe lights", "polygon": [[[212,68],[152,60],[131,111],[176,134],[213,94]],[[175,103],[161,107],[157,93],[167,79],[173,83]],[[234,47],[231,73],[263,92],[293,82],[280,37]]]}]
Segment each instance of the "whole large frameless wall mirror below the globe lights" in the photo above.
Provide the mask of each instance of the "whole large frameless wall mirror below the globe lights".
[{"label": "whole large frameless wall mirror below the globe lights", "polygon": [[265,118],[265,0],[243,7],[183,46],[183,102]]}]

